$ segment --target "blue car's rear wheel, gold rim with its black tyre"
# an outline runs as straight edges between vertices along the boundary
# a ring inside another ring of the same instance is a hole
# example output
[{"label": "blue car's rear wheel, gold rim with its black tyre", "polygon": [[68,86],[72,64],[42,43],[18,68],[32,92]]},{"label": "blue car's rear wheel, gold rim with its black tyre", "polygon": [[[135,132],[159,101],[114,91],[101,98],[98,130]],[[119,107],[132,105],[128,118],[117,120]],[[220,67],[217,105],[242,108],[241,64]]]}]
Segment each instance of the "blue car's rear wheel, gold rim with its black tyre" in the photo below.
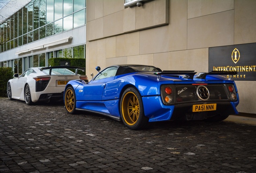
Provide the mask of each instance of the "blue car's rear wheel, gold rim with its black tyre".
[{"label": "blue car's rear wheel, gold rim with its black tyre", "polygon": [[148,124],[140,93],[133,87],[126,89],[120,103],[121,118],[124,125],[132,130],[143,129]]}]

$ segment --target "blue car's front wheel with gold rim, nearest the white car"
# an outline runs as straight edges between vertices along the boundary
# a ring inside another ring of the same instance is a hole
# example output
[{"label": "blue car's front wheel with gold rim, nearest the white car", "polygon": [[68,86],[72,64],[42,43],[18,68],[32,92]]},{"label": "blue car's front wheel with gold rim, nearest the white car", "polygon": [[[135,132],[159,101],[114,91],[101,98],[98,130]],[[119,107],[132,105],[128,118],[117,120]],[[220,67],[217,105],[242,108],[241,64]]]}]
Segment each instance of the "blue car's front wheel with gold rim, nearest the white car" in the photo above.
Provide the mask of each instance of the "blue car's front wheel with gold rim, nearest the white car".
[{"label": "blue car's front wheel with gold rim, nearest the white car", "polygon": [[72,87],[66,89],[64,103],[68,113],[74,114],[76,112],[76,95]]}]

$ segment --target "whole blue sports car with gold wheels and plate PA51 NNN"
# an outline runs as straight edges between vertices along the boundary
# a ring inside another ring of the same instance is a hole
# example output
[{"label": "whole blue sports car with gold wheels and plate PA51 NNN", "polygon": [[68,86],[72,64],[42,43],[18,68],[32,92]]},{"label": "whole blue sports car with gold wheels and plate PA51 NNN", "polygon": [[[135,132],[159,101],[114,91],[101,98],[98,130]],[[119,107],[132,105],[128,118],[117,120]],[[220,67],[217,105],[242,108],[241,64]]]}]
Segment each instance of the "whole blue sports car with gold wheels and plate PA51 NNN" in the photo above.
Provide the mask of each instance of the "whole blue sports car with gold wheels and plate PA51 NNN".
[{"label": "whole blue sports car with gold wheels and plate PA51 NNN", "polygon": [[162,71],[147,65],[113,65],[90,81],[70,80],[64,91],[66,111],[106,115],[130,129],[169,120],[222,121],[238,114],[236,72]]}]

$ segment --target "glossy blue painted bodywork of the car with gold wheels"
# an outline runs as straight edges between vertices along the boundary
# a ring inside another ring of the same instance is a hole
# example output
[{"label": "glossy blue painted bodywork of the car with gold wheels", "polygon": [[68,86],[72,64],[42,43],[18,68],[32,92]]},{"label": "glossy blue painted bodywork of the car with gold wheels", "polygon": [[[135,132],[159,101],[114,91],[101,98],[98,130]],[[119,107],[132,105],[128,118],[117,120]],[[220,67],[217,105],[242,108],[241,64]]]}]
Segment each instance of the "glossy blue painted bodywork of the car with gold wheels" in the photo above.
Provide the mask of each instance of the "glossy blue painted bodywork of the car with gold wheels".
[{"label": "glossy blue painted bodywork of the car with gold wheels", "polygon": [[[122,92],[127,86],[133,86],[138,89],[142,97],[145,116],[149,118],[149,122],[154,122],[170,120],[175,107],[174,105],[163,104],[160,95],[161,84],[193,83],[227,83],[234,84],[235,86],[235,82],[232,80],[215,75],[209,75],[205,79],[194,78],[193,80],[163,75],[157,80],[157,75],[155,74],[134,72],[99,80],[91,80],[88,84],[81,80],[71,80],[66,85],[66,88],[69,86],[74,88],[77,109],[114,116],[120,120],[120,99]],[[235,89],[237,93],[236,86]],[[238,111],[235,107],[238,103],[239,97],[237,93],[237,101],[230,102],[236,114],[238,114]]]}]

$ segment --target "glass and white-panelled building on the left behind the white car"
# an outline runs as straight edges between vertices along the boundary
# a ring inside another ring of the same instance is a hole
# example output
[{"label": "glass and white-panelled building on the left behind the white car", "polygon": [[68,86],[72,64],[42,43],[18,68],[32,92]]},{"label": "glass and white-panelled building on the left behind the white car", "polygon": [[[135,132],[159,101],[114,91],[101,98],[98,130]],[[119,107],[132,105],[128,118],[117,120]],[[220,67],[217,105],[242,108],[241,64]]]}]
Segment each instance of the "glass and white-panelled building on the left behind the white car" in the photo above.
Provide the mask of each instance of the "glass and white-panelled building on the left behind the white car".
[{"label": "glass and white-panelled building on the left behind the white car", "polygon": [[0,15],[0,66],[21,74],[49,58],[85,58],[85,0],[10,0]]}]

